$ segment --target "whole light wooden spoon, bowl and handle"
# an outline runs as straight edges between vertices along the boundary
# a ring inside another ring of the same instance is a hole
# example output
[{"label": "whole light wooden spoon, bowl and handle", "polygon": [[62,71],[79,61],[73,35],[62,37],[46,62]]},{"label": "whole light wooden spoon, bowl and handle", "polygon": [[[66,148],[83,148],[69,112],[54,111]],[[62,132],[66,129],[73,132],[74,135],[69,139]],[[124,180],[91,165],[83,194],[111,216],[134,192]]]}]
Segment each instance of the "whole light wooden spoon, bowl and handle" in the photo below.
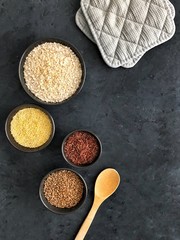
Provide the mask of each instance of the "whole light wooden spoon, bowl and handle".
[{"label": "whole light wooden spoon, bowl and handle", "polygon": [[108,197],[110,197],[116,191],[119,183],[120,175],[115,169],[107,168],[98,175],[94,188],[93,205],[89,211],[89,214],[84,220],[75,240],[84,239],[98,208]]}]

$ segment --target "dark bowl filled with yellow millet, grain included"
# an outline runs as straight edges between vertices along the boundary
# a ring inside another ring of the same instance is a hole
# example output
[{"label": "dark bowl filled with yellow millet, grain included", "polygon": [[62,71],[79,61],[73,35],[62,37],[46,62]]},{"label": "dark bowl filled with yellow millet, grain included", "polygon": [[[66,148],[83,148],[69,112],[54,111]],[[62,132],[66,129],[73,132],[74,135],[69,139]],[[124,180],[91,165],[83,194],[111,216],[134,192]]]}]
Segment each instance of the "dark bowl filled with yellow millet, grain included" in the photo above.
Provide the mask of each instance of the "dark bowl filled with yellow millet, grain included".
[{"label": "dark bowl filled with yellow millet, grain included", "polygon": [[44,108],[23,104],[14,108],[5,123],[9,142],[23,152],[36,152],[47,147],[55,133],[52,116]]}]

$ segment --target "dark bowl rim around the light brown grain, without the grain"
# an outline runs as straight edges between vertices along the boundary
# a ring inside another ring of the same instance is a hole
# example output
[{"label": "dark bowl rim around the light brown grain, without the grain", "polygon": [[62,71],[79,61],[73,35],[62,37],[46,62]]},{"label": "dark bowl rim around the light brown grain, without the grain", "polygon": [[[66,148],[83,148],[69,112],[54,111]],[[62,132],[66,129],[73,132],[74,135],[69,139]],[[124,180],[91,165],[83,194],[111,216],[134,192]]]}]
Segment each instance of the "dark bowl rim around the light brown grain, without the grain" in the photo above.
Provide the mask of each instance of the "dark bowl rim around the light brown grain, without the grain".
[{"label": "dark bowl rim around the light brown grain, without the grain", "polygon": [[[51,205],[47,199],[45,198],[44,196],[44,182],[45,180],[47,179],[47,177],[49,176],[49,174],[51,173],[54,173],[54,172],[57,172],[57,171],[61,171],[61,170],[68,170],[68,171],[71,171],[73,173],[75,173],[76,175],[79,176],[79,178],[81,179],[83,185],[84,185],[84,190],[83,190],[83,196],[80,200],[80,202],[72,207],[72,208],[58,208],[58,207],[55,207],[53,205]],[[75,210],[77,210],[78,208],[80,208],[82,206],[82,204],[84,203],[84,201],[86,200],[87,198],[87,193],[88,193],[88,189],[87,189],[87,184],[85,182],[85,180],[83,179],[83,177],[77,173],[76,171],[72,170],[72,169],[69,169],[69,168],[57,168],[57,169],[54,169],[52,171],[50,171],[41,181],[41,184],[40,184],[40,187],[39,187],[39,196],[40,196],[40,199],[42,201],[42,203],[44,204],[44,206],[49,209],[50,211],[54,212],[54,213],[57,213],[57,214],[67,214],[67,213],[71,213],[71,212],[74,212]]]}]

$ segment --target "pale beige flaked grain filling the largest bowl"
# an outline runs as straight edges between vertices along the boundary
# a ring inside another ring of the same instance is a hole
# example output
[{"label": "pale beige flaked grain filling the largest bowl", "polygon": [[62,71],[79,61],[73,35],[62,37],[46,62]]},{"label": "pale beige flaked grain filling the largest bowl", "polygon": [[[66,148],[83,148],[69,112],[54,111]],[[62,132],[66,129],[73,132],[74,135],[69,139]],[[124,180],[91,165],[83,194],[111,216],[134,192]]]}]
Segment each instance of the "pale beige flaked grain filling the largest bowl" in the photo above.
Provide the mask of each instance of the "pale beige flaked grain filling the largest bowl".
[{"label": "pale beige flaked grain filling the largest bowl", "polygon": [[79,88],[82,67],[70,47],[46,42],[35,47],[24,63],[28,89],[45,102],[62,102]]}]

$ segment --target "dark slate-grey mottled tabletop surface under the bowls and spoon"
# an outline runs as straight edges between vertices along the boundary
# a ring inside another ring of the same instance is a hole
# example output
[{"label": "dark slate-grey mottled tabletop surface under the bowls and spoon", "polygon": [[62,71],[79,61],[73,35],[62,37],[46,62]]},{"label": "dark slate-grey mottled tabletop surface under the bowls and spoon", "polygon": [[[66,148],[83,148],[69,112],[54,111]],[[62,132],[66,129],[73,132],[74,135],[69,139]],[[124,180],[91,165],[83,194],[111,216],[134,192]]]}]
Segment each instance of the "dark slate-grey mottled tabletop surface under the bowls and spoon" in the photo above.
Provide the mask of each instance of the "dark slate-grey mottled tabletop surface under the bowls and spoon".
[{"label": "dark slate-grey mottled tabletop surface under the bowls and spoon", "polygon": [[[180,2],[176,35],[151,50],[132,69],[111,69],[76,27],[79,0],[0,0],[0,240],[73,240],[93,199],[97,174],[116,168],[118,191],[100,208],[87,240],[180,239]],[[87,79],[82,92],[62,106],[44,106],[56,122],[51,145],[22,153],[6,139],[4,123],[17,105],[33,103],[17,69],[32,42],[59,37],[82,53]],[[38,187],[57,167],[68,167],[62,139],[87,128],[102,140],[102,158],[78,170],[88,183],[85,205],[55,215],[42,205]]]}]

